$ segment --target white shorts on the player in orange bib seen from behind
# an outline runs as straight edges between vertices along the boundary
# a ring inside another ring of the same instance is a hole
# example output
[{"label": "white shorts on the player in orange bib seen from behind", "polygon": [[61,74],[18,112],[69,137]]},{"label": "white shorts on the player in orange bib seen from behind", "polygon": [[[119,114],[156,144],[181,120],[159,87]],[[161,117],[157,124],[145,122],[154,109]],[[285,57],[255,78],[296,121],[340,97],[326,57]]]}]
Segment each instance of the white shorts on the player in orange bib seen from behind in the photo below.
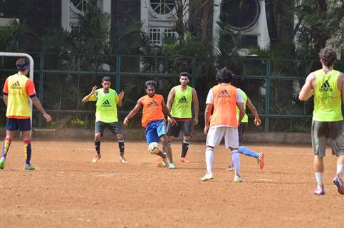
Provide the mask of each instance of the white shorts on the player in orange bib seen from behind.
[{"label": "white shorts on the player in orange bib seen from behind", "polygon": [[208,131],[207,146],[218,147],[222,138],[226,148],[239,148],[238,129],[231,127],[212,127]]}]

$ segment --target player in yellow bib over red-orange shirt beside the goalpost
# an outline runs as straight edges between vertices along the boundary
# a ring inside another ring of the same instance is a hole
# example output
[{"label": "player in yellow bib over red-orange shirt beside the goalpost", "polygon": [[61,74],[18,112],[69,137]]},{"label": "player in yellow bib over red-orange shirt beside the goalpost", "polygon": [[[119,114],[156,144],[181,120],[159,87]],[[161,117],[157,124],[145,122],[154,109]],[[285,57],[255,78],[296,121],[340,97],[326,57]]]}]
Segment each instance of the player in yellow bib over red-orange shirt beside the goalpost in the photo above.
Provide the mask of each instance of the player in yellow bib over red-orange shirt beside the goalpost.
[{"label": "player in yellow bib over red-orange shirt beside the goalpost", "polygon": [[33,105],[46,119],[46,122],[51,121],[51,116],[46,113],[46,110],[41,105],[41,102],[36,97],[36,90],[33,81],[27,78],[30,68],[28,58],[19,58],[16,61],[16,68],[18,73],[6,78],[4,89],[2,90],[4,96],[4,103],[6,109],[6,138],[2,144],[0,169],[4,169],[6,156],[9,152],[11,140],[14,138],[16,130],[20,130],[24,140],[24,155],[25,170],[35,170],[31,165],[31,110],[28,99],[31,98]]}]

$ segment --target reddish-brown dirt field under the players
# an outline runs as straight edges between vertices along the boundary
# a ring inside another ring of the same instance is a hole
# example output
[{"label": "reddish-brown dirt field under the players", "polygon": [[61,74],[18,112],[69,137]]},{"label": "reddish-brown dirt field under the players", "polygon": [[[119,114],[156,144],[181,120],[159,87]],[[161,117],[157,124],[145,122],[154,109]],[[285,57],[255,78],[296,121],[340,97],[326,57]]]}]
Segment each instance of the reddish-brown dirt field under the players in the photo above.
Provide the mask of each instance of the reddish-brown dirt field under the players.
[{"label": "reddish-brown dirt field under the players", "polygon": [[[249,145],[266,152],[266,167],[241,155],[242,183],[226,172],[229,152],[215,150],[214,180],[201,182],[204,145],[192,144],[189,164],[156,167],[144,142],[33,140],[36,170],[25,172],[22,142],[14,141],[0,171],[0,227],[343,227],[344,196],[331,183],[335,157],[325,158],[325,196],[313,195],[310,146]],[[330,150],[328,150],[329,154]]]}]

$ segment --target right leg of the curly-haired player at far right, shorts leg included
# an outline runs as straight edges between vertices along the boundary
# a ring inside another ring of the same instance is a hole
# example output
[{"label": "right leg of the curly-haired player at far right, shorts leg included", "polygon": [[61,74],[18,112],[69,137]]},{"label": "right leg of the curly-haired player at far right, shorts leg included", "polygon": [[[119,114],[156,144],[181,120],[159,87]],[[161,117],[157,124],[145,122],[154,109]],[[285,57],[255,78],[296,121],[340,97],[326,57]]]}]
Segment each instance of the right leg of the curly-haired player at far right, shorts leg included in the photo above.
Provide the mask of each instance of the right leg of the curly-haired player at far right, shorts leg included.
[{"label": "right leg of the curly-haired player at far right, shorts leg included", "polygon": [[344,172],[344,128],[343,128],[343,120],[338,122],[338,129],[331,128],[331,131],[337,132],[338,134],[330,134],[335,135],[334,139],[330,140],[332,152],[333,154],[337,155],[337,170],[335,177],[333,177],[333,184],[337,187],[337,191],[339,194],[344,194],[344,183],[342,180],[342,173]]}]

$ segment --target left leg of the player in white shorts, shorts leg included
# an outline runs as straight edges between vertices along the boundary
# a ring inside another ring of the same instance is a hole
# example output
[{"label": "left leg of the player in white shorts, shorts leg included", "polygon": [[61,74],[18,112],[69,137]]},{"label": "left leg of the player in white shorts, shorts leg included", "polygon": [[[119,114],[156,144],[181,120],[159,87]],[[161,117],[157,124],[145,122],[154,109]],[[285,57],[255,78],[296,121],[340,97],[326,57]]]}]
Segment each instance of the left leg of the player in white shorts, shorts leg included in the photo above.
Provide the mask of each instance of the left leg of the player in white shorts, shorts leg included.
[{"label": "left leg of the player in white shorts, shorts leg included", "polygon": [[224,130],[224,127],[209,128],[206,142],[207,148],[205,150],[205,163],[207,165],[207,173],[206,175],[204,175],[204,177],[201,178],[201,180],[203,181],[211,180],[214,178],[212,172],[214,147],[217,147],[221,142],[221,139],[224,137]]}]

